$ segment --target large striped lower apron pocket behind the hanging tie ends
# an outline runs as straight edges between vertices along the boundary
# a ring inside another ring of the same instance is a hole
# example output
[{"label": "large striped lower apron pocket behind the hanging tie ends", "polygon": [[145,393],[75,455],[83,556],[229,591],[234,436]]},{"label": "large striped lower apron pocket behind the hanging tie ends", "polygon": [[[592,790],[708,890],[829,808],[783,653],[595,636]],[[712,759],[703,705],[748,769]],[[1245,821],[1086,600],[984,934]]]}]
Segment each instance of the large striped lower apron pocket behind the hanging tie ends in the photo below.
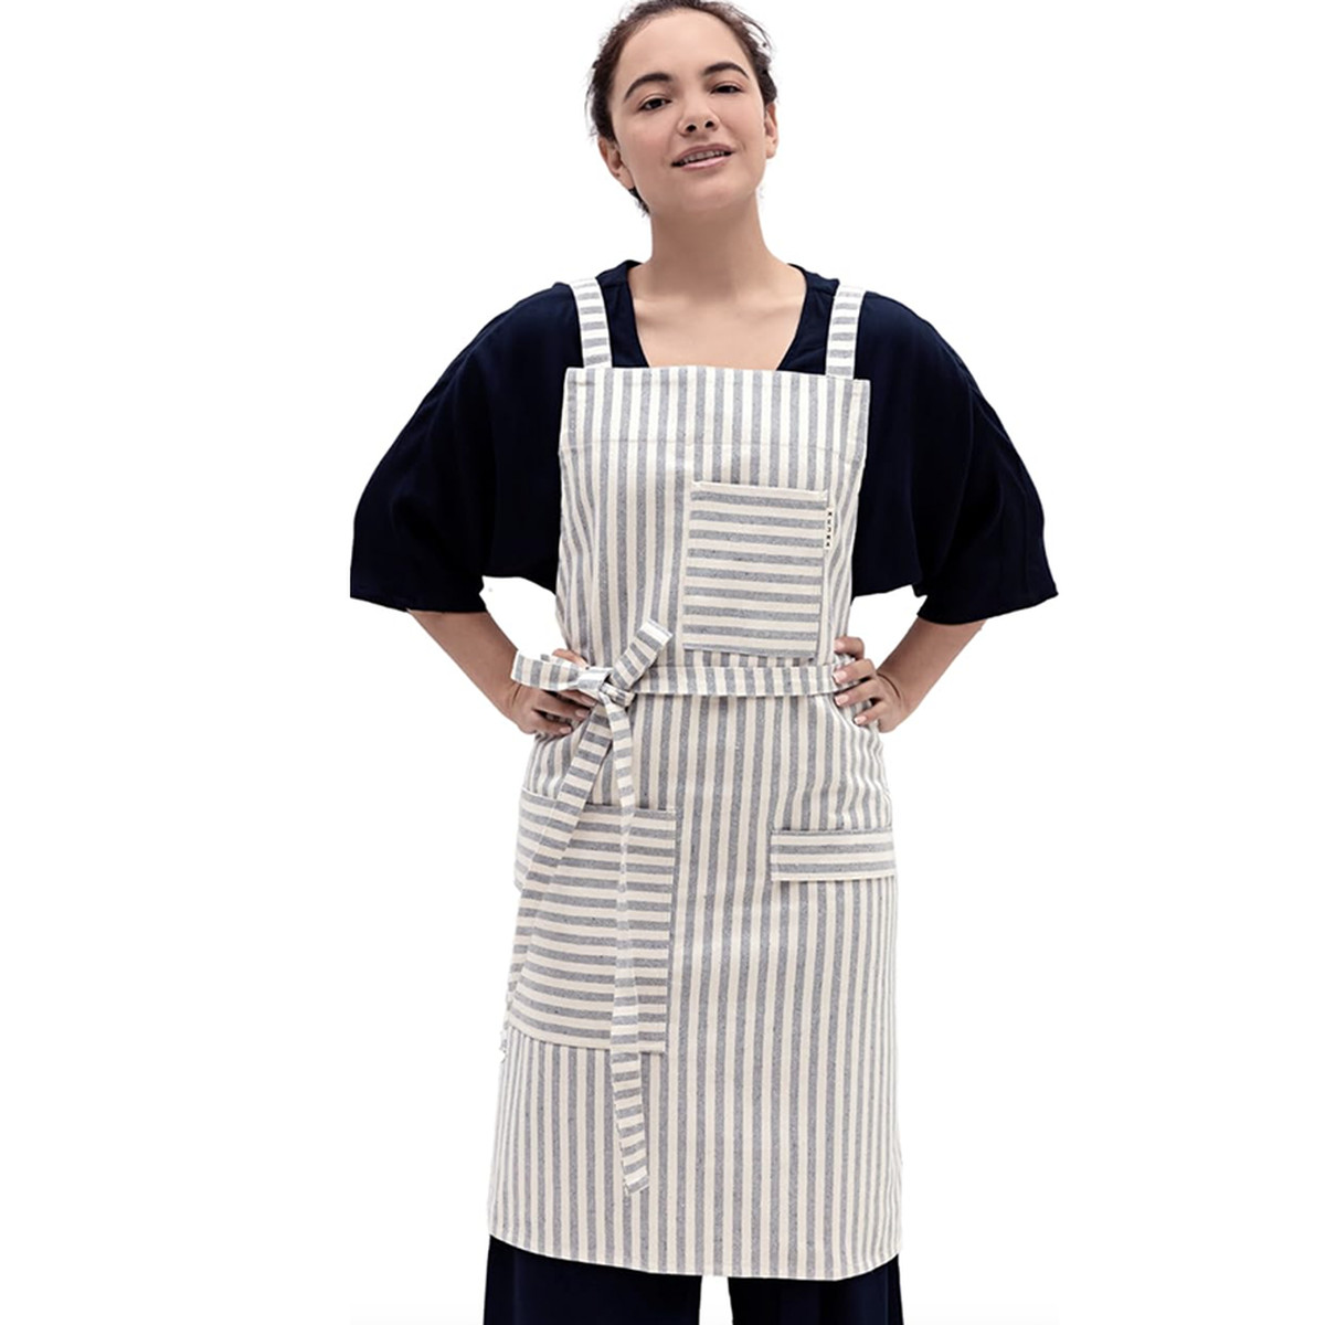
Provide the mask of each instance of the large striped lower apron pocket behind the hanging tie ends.
[{"label": "large striped lower apron pocket behind the hanging tie ends", "polygon": [[535,848],[556,802],[521,791],[523,878],[507,982],[507,1022],[553,1044],[611,1048],[635,1032],[661,1052],[672,983],[677,812],[586,804],[559,860]]}]

